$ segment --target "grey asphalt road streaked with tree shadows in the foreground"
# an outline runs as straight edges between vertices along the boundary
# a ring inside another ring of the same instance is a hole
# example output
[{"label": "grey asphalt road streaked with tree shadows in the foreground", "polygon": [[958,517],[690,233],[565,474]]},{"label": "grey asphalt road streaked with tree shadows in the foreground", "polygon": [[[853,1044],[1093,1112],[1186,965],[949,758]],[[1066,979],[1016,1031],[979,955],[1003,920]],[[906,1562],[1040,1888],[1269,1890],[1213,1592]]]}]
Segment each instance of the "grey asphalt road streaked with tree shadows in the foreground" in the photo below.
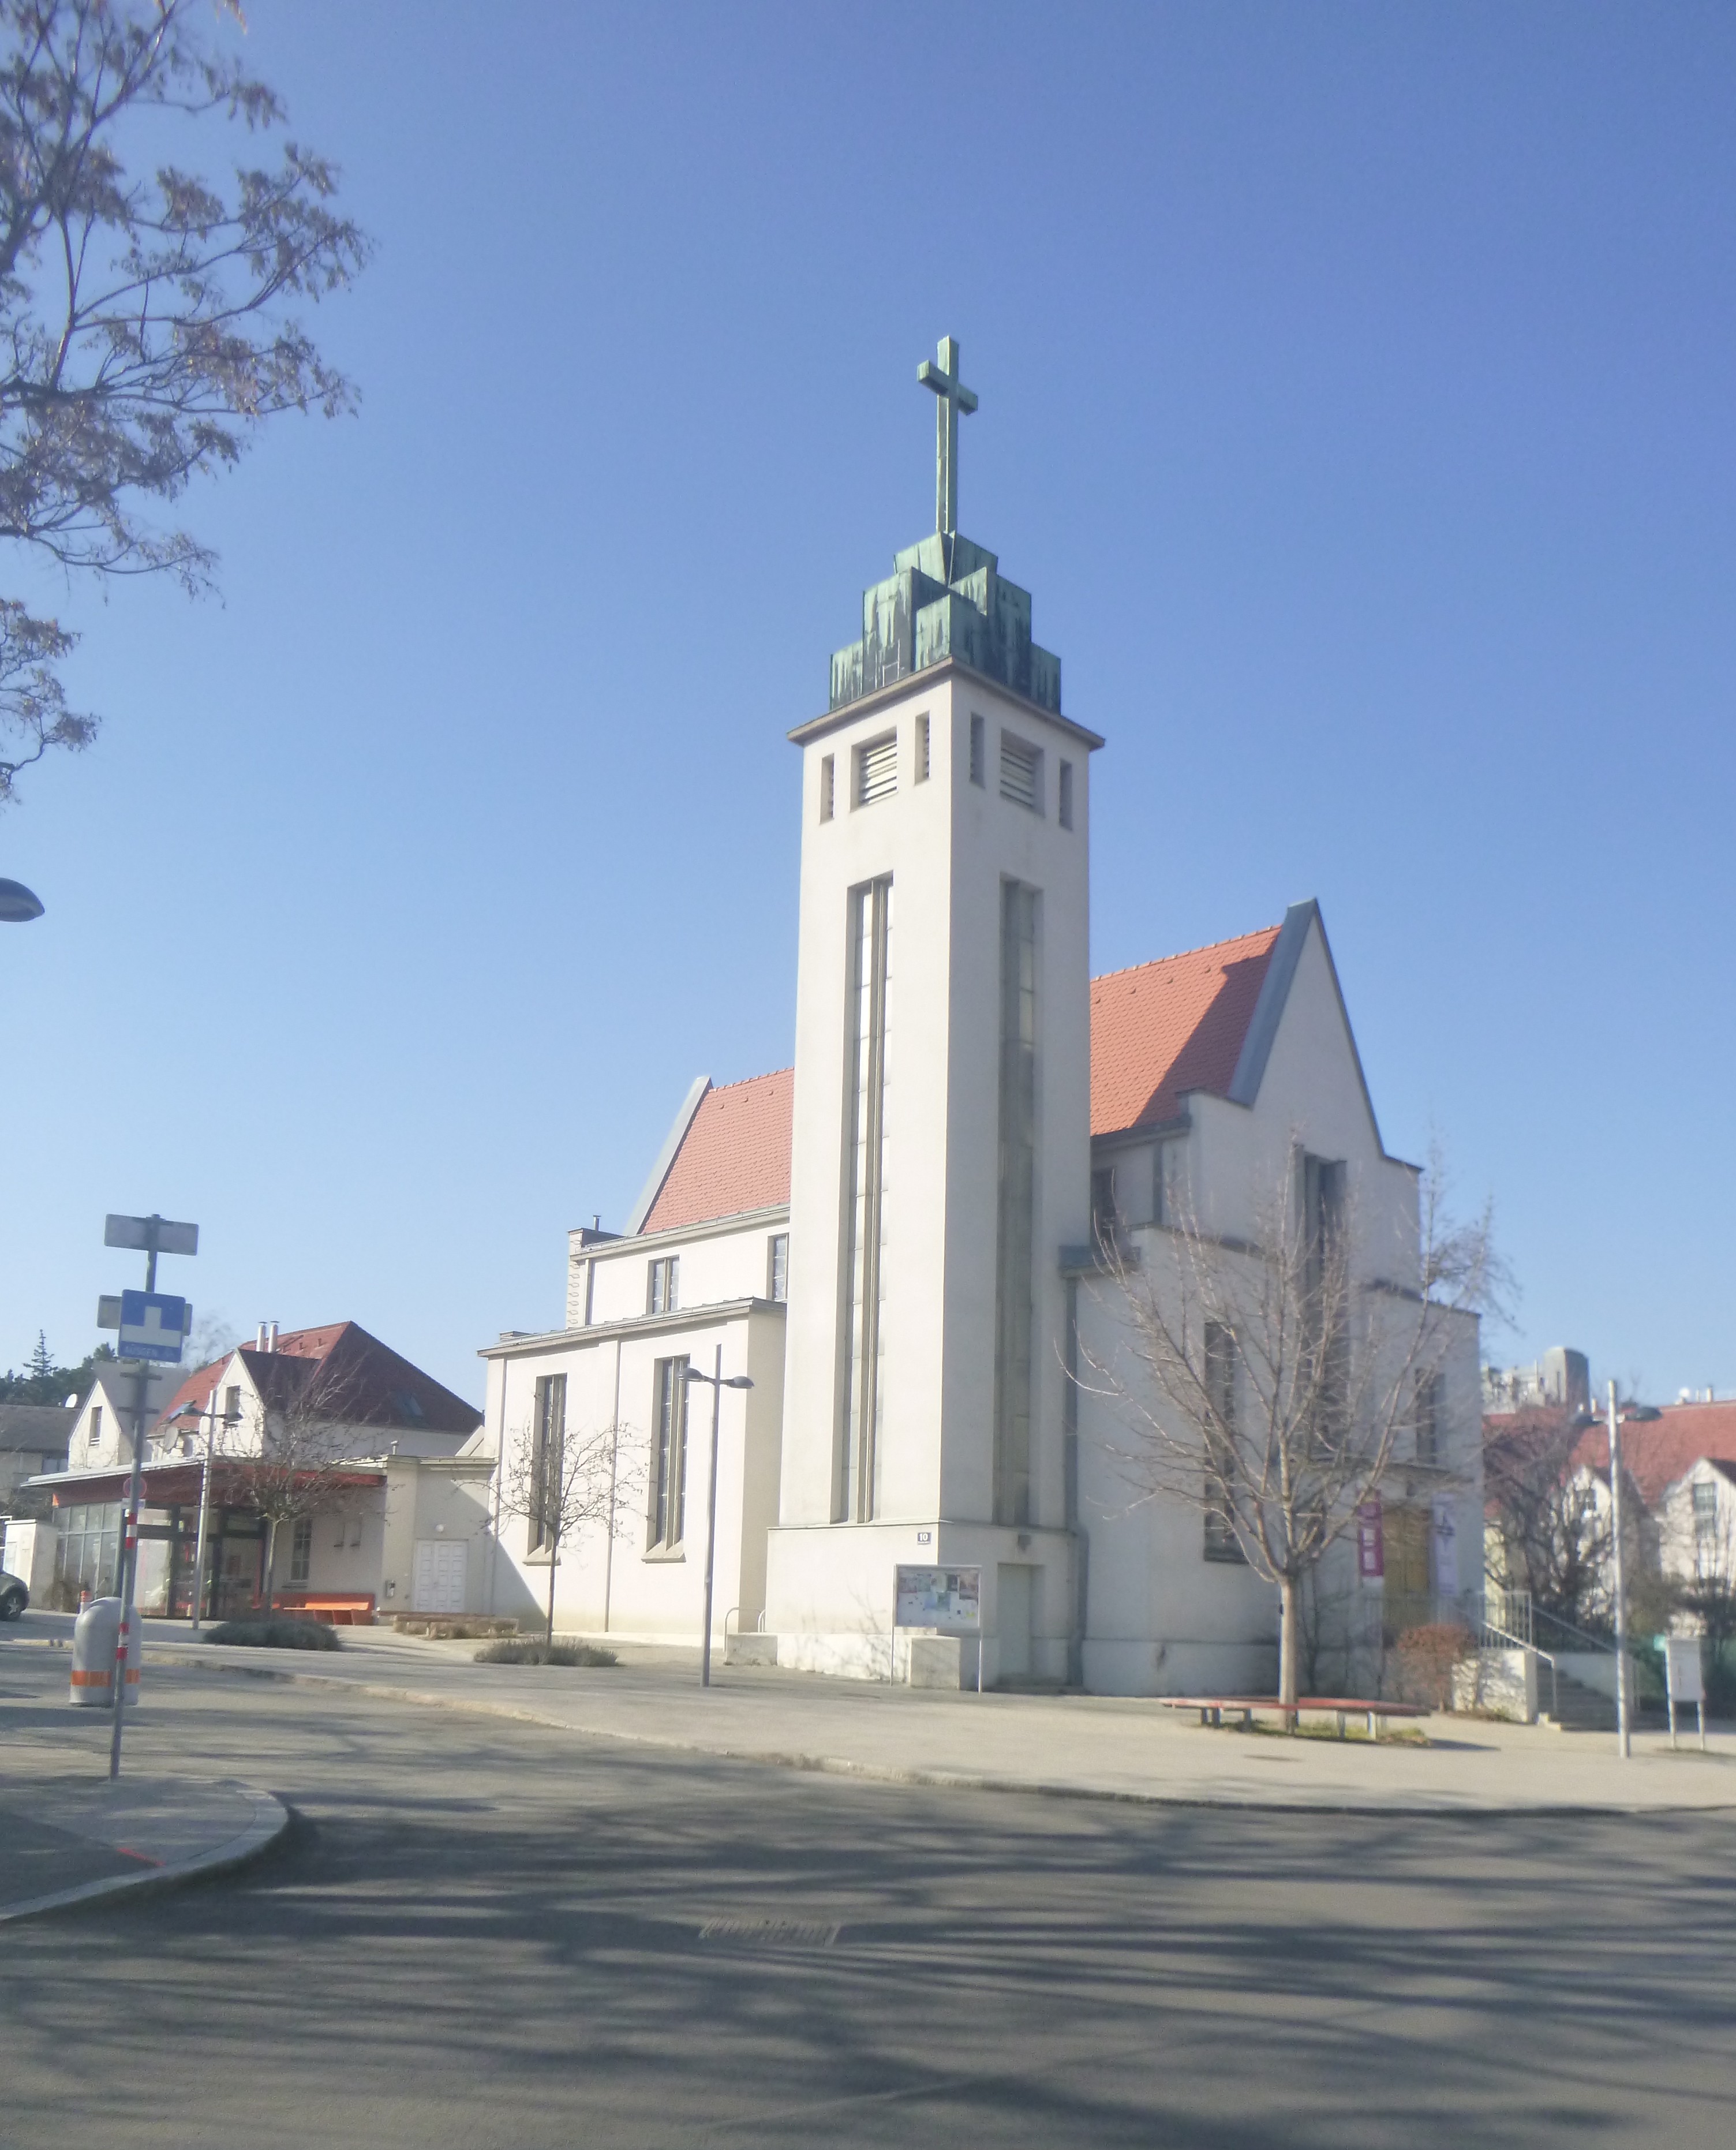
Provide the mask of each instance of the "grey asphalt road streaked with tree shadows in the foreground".
[{"label": "grey asphalt road streaked with tree shadows in the foreground", "polygon": [[[60,1679],[6,1653],[0,1739],[95,1765]],[[206,1673],[129,1737],[296,1823],[9,1931],[4,2150],[1732,2139],[1725,1817],[915,1791]]]}]

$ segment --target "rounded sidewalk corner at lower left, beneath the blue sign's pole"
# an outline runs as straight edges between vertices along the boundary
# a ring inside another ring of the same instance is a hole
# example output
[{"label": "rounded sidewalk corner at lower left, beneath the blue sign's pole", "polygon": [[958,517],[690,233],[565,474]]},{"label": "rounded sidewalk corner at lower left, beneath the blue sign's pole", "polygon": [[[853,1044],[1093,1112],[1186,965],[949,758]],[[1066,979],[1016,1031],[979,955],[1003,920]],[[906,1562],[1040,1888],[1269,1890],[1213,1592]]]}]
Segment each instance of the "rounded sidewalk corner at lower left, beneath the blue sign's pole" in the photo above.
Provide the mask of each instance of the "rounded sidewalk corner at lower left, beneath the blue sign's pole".
[{"label": "rounded sidewalk corner at lower left, beneath the blue sign's pole", "polygon": [[0,1757],[0,1924],[226,1873],[290,1819],[247,1784],[125,1774],[112,1784],[67,1774],[64,1761],[26,1744]]}]

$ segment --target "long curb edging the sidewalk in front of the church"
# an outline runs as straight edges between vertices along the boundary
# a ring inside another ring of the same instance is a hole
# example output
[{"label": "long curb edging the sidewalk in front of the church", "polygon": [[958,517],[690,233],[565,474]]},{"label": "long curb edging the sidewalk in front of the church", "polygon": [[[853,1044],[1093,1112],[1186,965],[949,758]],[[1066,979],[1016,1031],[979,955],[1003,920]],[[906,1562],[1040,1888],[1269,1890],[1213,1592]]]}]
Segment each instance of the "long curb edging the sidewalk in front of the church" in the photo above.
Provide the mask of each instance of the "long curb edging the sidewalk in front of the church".
[{"label": "long curb edging the sidewalk in front of the church", "polygon": [[1525,1802],[1498,1804],[1480,1800],[1235,1800],[1229,1795],[1207,1795],[1199,1791],[1111,1791],[1100,1784],[1066,1784],[1055,1780],[1027,1782],[1025,1778],[980,1776],[960,1769],[900,1769],[892,1763],[849,1761],[842,1754],[801,1754],[773,1748],[733,1748],[705,1744],[700,1739],[668,1739],[660,1733],[623,1733],[602,1724],[572,1724],[567,1718],[550,1716],[544,1709],[526,1709],[511,1703],[473,1701],[468,1696],[432,1694],[428,1688],[395,1688],[374,1679],[350,1679],[344,1673],[296,1673],[277,1664],[230,1664],[215,1658],[178,1656],[168,1649],[146,1653],[146,1662],[176,1664],[193,1671],[232,1673],[243,1679],[281,1679],[309,1688],[344,1688],[350,1694],[365,1694],[380,1703],[413,1703],[419,1709],[453,1709],[479,1718],[505,1718],[513,1724],[537,1724],[544,1731],[567,1733],[574,1739],[612,1739],[617,1746],[649,1748],[662,1754],[711,1754],[718,1761],[756,1763],[767,1769],[799,1769],[810,1776],[853,1776],[874,1784],[911,1784],[926,1791],[993,1791],[1023,1793],[1036,1800],[1087,1800],[1096,1806],[1173,1806],[1173,1808],[1223,1808],[1238,1815],[1366,1815],[1401,1817],[1429,1815],[1431,1819],[1459,1817],[1474,1821],[1482,1815],[1538,1815],[1579,1817],[1586,1815],[1727,1815],[1736,1810],[1736,1797],[1704,1804],[1684,1802],[1667,1806],[1646,1802],[1639,1806],[1616,1806],[1607,1800],[1581,1802]]}]

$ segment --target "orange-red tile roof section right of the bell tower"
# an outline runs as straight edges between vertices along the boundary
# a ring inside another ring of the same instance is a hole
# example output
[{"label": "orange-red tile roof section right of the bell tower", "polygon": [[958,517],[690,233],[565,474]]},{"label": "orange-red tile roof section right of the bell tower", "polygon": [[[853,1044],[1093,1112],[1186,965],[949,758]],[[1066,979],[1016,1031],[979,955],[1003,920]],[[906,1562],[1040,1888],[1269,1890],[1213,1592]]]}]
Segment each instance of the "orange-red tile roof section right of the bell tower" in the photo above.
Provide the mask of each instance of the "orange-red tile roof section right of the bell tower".
[{"label": "orange-red tile roof section right of the bell tower", "polygon": [[1278,927],[1091,980],[1091,1133],[1173,1120],[1186,1090],[1225,1096]]}]

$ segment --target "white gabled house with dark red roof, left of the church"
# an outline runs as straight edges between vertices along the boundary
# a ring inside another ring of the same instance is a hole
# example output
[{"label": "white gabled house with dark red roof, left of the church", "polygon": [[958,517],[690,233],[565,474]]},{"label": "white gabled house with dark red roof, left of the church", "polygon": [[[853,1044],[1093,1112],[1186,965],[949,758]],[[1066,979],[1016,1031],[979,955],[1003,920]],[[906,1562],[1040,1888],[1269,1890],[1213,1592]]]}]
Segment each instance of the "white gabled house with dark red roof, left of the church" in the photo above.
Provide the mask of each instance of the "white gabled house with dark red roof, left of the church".
[{"label": "white gabled house with dark red roof, left of the church", "polygon": [[[198,1367],[157,1415],[140,1604],[150,1615],[191,1612],[202,1499],[202,1612],[228,1617],[262,1602],[266,1529],[254,1460],[277,1453],[318,1505],[279,1524],[275,1604],[355,1619],[481,1610],[494,1559],[494,1458],[477,1453],[479,1428],[473,1404],[357,1322],[286,1335],[260,1324],[254,1346]],[[114,1589],[131,1453],[131,1374],[103,1367],[73,1425],[67,1468],[34,1481],[54,1496],[54,1585],[73,1604],[79,1587]]]}]

